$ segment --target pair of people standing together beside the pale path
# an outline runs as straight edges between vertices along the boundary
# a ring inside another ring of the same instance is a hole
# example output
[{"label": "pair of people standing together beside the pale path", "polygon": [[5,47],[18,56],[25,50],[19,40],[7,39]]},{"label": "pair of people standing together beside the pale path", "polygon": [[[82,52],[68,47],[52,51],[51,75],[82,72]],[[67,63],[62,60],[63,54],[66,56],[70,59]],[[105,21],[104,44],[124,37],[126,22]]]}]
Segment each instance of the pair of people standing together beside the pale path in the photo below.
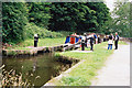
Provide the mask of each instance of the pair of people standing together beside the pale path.
[{"label": "pair of people standing together beside the pale path", "polygon": [[118,50],[119,35],[117,32],[116,32],[116,36],[113,36],[112,33],[109,35],[108,50],[112,50],[113,41],[114,41],[114,46],[116,46],[114,50]]}]

